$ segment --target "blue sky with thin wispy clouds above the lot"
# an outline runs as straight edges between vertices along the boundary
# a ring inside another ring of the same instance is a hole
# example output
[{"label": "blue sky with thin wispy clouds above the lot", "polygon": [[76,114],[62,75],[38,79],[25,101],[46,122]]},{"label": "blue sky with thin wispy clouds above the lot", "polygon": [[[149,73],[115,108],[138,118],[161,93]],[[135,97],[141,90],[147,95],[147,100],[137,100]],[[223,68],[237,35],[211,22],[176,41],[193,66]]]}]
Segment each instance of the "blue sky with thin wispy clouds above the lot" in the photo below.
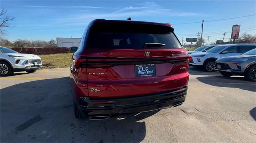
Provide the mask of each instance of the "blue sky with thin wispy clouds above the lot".
[{"label": "blue sky with thin wispy clouds above the lot", "polygon": [[[203,38],[209,44],[218,39],[229,41],[232,25],[240,24],[240,34],[256,35],[256,0],[0,0],[6,16],[15,19],[4,38],[28,40],[56,40],[56,37],[80,38],[94,19],[170,23],[182,43],[186,38],[197,38],[201,23],[205,22]],[[254,16],[249,16],[254,15]],[[186,43],[189,44],[189,43]],[[206,43],[205,43],[206,44]]]}]

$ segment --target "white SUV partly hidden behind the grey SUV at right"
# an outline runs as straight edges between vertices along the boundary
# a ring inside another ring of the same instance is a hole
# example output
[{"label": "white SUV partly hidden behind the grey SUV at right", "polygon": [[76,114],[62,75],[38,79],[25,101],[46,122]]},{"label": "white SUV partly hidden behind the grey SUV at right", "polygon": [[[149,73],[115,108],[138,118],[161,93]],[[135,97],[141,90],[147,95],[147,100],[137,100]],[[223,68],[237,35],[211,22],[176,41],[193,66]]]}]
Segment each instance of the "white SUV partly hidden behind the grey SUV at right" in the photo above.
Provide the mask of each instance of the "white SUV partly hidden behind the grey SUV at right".
[{"label": "white SUV partly hidden behind the grey SUV at right", "polygon": [[192,53],[190,65],[193,67],[203,67],[207,72],[213,72],[215,61],[222,57],[241,55],[256,48],[256,44],[229,44],[218,45],[206,52]]}]

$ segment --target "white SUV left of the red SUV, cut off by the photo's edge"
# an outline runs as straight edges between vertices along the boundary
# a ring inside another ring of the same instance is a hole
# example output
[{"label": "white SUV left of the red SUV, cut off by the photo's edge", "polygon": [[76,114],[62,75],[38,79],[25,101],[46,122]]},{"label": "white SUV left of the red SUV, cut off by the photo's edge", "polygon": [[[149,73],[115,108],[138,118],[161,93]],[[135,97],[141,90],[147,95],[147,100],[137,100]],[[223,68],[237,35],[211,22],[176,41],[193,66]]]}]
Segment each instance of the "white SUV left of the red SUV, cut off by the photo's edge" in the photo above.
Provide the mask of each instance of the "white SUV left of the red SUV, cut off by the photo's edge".
[{"label": "white SUV left of the red SUV, cut off by the photo's edge", "polygon": [[9,76],[13,72],[36,72],[42,67],[41,58],[32,54],[20,54],[12,49],[0,47],[0,75]]}]

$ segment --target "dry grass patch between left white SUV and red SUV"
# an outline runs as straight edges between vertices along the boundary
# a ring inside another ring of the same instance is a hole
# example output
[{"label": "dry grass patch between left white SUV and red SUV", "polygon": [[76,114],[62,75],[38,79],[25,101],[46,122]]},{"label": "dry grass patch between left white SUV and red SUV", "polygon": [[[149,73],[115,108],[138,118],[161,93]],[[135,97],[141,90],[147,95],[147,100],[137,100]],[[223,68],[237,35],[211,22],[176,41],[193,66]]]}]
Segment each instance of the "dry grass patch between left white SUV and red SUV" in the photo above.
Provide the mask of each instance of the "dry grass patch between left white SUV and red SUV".
[{"label": "dry grass patch between left white SUV and red SUV", "polygon": [[38,55],[42,59],[43,69],[69,67],[73,53]]}]

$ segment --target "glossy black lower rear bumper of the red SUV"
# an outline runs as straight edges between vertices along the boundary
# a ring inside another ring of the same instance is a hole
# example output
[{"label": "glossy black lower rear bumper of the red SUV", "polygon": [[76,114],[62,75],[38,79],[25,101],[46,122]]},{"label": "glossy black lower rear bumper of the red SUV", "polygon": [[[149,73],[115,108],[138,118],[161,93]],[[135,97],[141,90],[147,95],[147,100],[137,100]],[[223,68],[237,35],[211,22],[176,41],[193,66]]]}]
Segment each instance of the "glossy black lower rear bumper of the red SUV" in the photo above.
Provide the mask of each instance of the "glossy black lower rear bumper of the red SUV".
[{"label": "glossy black lower rear bumper of the red SUV", "polygon": [[140,97],[115,99],[79,98],[76,102],[84,115],[89,116],[118,116],[138,112],[147,112],[162,108],[181,105],[187,95],[187,86],[182,89]]}]

